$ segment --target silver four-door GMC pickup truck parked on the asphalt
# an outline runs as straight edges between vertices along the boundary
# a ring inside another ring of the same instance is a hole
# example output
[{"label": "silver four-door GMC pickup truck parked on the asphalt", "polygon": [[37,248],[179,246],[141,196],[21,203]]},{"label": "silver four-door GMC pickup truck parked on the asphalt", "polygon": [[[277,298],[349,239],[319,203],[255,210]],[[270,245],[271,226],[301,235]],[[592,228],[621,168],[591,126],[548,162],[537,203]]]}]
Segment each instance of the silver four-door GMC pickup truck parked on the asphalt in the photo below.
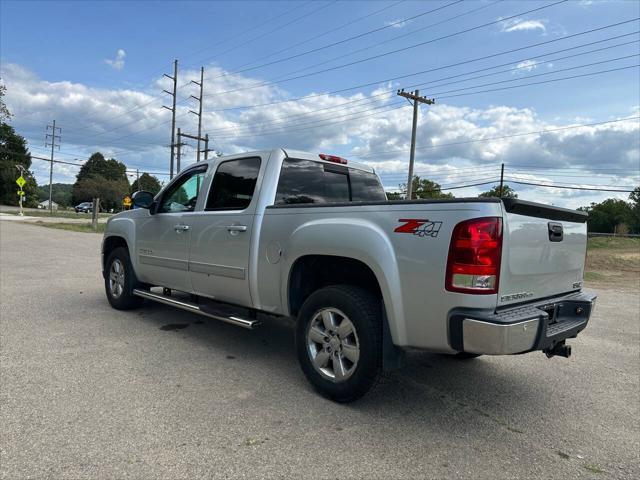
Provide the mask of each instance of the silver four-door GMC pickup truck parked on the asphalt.
[{"label": "silver four-door GMC pickup truck parked on the asphalt", "polygon": [[296,319],[307,379],[364,395],[409,348],[568,357],[596,297],[582,290],[586,214],[514,199],[388,201],[375,172],[289,149],[200,162],[109,219],[106,294],[244,328]]}]

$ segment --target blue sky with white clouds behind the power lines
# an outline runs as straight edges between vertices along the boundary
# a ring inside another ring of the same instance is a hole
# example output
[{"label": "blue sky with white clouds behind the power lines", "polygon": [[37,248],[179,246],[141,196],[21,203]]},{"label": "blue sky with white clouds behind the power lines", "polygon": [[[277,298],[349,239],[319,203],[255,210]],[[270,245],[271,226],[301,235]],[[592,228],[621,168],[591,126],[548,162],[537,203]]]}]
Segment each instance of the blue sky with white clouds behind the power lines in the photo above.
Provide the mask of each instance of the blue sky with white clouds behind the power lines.
[{"label": "blue sky with white clouds behind the power lines", "polygon": [[[15,113],[12,123],[29,139],[32,152],[42,155],[44,125],[56,118],[63,126],[59,158],[71,161],[100,149],[132,167],[166,171],[163,145],[169,128],[161,90],[168,84],[162,73],[171,71],[174,58],[180,61],[180,85],[205,67],[204,131],[215,137],[217,148],[228,153],[278,145],[329,150],[371,162],[388,187],[401,183],[406,172],[411,110],[393,109],[399,99],[385,91],[424,84],[421,93],[435,96],[436,105],[421,111],[422,147],[637,117],[639,112],[638,68],[625,68],[639,63],[634,32],[640,30],[640,2],[633,0],[2,1],[0,9],[0,60],[7,103]],[[634,21],[608,27],[629,20]],[[571,37],[600,27],[607,28]],[[458,34],[467,29],[472,30]],[[328,47],[334,42],[340,43]],[[581,46],[592,42],[598,43]],[[425,44],[413,47],[419,43]],[[534,44],[542,45],[478,60]],[[573,49],[552,53],[567,48]],[[400,51],[389,53],[394,50]],[[569,55],[574,56],[560,58]],[[466,63],[449,66],[461,62]],[[613,69],[621,70],[592,75]],[[427,70],[432,71],[384,81]],[[306,76],[287,81],[299,75]],[[372,85],[319,95],[367,83]],[[197,92],[185,86],[178,97],[192,93]],[[310,94],[317,95],[283,103]],[[280,103],[228,110],[269,102]],[[347,102],[349,107],[342,106]],[[179,124],[194,130],[195,117],[187,113],[194,102],[180,105]],[[453,185],[475,180],[463,169],[489,172],[490,166],[505,162],[517,165],[513,171],[522,178],[539,181],[637,185],[637,119],[569,132],[482,142],[474,148],[419,150],[418,170]],[[34,171],[44,183],[46,165],[41,163],[34,162]],[[529,171],[520,165],[546,169]],[[73,181],[74,168],[56,169],[56,180]],[[553,202],[569,206],[609,196],[527,188],[518,189],[522,196],[541,200],[551,195]]]}]

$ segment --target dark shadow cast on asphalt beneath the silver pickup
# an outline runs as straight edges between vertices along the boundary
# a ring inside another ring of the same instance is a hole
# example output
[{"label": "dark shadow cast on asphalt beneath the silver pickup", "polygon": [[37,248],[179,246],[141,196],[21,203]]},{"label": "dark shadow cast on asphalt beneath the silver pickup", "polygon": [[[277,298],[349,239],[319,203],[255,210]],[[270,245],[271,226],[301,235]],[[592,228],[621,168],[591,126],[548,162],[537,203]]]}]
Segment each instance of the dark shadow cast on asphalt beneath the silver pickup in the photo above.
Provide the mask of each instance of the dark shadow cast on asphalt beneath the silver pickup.
[{"label": "dark shadow cast on asphalt beneath the silver pickup", "polygon": [[[551,403],[553,385],[543,377],[522,375],[517,366],[509,363],[515,357],[460,360],[412,351],[407,354],[406,366],[384,374],[380,384],[367,396],[358,402],[340,405],[319,397],[306,382],[296,358],[291,319],[266,318],[261,327],[247,331],[151,302],[134,312],[131,314],[150,327],[164,330],[167,335],[197,341],[227,359],[244,364],[243,370],[252,372],[244,380],[243,388],[247,390],[255,388],[256,377],[277,376],[278,380],[269,384],[272,391],[260,394],[300,398],[305,408],[313,408],[314,403],[323,404],[323,408],[329,404],[336,411],[346,409],[370,418],[384,416],[405,426],[434,422],[438,417],[449,420],[455,417],[458,421],[463,419],[461,425],[456,427],[445,422],[446,426],[440,427],[460,428],[464,435],[465,417],[484,417],[487,425],[523,434],[516,420],[522,411],[526,410],[529,418],[542,421]],[[212,358],[212,367],[214,365],[219,366]],[[259,403],[260,399],[256,401]]]}]

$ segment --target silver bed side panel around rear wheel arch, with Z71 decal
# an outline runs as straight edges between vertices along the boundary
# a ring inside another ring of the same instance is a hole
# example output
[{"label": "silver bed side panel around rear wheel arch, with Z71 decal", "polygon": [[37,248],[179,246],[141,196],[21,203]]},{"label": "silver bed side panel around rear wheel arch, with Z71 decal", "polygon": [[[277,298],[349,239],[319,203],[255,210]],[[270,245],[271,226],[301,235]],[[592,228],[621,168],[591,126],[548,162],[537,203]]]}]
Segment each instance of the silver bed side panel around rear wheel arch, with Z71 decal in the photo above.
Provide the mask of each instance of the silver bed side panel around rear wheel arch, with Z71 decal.
[{"label": "silver bed side panel around rear wheel arch, with Z71 decal", "polygon": [[[496,305],[496,295],[464,295],[444,289],[453,227],[484,216],[502,216],[501,204],[399,202],[267,208],[258,245],[256,307],[289,314],[289,272],[298,258],[349,257],[362,261],[376,275],[396,345],[449,352],[449,310]],[[424,236],[396,232],[407,223],[401,219],[437,222],[439,229]],[[273,252],[278,250],[282,253],[274,263]]]}]

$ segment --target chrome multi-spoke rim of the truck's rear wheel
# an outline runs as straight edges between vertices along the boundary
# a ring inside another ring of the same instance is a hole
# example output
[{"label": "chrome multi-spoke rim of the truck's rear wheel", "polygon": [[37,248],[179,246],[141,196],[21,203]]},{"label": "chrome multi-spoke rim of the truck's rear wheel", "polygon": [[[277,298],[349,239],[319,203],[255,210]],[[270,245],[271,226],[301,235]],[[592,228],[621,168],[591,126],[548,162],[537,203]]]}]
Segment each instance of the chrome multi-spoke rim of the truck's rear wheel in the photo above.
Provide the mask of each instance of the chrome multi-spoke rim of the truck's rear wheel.
[{"label": "chrome multi-spoke rim of the truck's rear wheel", "polygon": [[336,308],[319,310],[307,327],[307,351],[313,368],[323,378],[344,382],[353,375],[360,359],[355,326]]}]

